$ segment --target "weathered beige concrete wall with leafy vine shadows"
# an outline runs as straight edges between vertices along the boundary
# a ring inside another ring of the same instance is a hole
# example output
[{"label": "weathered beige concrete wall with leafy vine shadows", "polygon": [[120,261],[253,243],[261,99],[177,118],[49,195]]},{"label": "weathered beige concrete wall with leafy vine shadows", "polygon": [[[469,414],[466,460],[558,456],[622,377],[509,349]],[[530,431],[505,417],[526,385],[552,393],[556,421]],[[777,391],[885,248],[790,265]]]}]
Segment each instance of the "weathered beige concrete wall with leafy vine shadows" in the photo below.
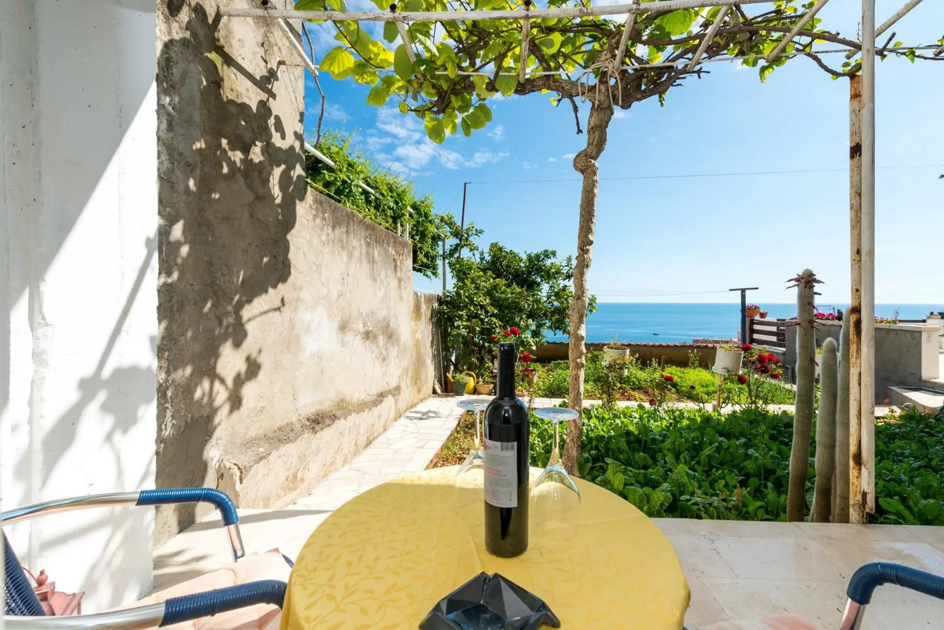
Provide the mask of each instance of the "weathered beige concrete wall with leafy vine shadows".
[{"label": "weathered beige concrete wall with leafy vine shadows", "polygon": [[[158,7],[157,484],[269,507],[430,394],[430,304],[409,241],[306,185],[285,35],[219,4]],[[198,514],[160,508],[157,539]]]}]

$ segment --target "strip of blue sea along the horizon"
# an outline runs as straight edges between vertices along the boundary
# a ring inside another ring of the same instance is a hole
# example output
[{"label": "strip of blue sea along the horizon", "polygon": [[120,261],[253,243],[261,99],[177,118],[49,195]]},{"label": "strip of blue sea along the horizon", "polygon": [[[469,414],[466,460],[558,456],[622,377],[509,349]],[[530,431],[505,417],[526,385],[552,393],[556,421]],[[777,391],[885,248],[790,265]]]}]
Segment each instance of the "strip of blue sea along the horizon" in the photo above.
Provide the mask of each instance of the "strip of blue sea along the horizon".
[{"label": "strip of blue sea along the horizon", "polygon": [[[820,311],[845,309],[847,304],[818,304]],[[793,317],[797,305],[761,304],[768,317]],[[876,304],[875,315],[890,317],[901,309],[902,319],[921,319],[944,304]],[[587,341],[691,343],[696,337],[733,339],[741,330],[740,303],[601,303],[587,317]],[[548,341],[566,341],[567,335],[548,335]]]}]

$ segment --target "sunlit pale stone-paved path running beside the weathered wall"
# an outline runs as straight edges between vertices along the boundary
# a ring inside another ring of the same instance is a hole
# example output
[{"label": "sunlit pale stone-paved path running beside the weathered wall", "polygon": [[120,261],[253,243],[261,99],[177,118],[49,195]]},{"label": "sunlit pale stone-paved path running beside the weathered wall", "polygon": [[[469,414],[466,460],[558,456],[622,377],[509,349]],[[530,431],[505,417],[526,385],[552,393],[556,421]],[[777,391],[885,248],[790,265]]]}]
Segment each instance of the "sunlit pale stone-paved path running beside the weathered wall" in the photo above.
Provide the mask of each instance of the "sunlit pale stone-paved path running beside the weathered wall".
[{"label": "sunlit pale stone-paved path running beside the weathered wall", "polygon": [[334,510],[375,485],[426,469],[462,416],[455,396],[433,396],[413,407],[361,452],[292,506]]}]

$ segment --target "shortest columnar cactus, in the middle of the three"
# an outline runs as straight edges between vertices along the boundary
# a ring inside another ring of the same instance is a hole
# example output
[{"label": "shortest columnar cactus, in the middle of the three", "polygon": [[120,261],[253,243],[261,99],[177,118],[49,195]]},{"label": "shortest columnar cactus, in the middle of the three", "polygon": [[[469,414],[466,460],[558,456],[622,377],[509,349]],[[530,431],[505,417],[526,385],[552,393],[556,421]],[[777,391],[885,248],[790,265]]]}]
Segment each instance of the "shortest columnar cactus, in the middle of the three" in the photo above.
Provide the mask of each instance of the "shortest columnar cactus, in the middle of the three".
[{"label": "shortest columnar cactus, in the middle of the three", "polygon": [[836,363],[835,340],[823,342],[819,359],[819,410],[817,413],[817,483],[813,494],[810,520],[828,523],[833,510],[833,475],[835,470]]}]

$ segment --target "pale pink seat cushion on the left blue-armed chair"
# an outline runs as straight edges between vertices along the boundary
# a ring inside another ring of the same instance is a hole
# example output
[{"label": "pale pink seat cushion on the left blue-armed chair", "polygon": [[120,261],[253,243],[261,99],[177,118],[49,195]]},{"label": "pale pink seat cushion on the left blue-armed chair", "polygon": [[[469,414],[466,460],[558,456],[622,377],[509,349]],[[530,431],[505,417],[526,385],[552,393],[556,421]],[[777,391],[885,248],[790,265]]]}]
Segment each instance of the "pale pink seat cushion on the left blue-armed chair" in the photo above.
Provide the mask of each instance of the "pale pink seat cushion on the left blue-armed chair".
[{"label": "pale pink seat cushion on the left blue-armed chair", "polygon": [[[145,597],[134,604],[121,606],[133,608],[147,604],[160,604],[172,597],[192,595],[214,588],[235,587],[247,582],[259,580],[289,581],[289,565],[278,550],[261,553],[244,558],[226,569],[214,570],[193,580],[187,580],[176,586],[165,588],[153,595]],[[121,608],[116,608],[120,610]],[[174,630],[268,630],[278,628],[281,609],[270,604],[256,604],[222,612],[212,617],[204,617],[194,621],[184,621],[174,625],[165,625],[164,628]]]}]

